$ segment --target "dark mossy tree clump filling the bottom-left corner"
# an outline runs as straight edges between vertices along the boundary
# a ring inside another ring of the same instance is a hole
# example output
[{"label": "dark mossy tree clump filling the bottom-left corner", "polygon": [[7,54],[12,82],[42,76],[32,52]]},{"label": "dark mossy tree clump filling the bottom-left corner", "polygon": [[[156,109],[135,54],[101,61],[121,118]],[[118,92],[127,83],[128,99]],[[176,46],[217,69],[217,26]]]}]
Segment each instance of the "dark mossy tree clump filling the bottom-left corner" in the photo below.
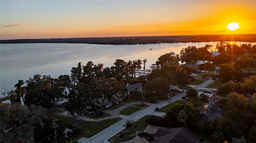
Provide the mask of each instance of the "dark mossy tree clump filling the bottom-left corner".
[{"label": "dark mossy tree clump filling the bottom-left corner", "polygon": [[1,143],[33,142],[35,126],[42,126],[47,110],[41,106],[1,104]]}]

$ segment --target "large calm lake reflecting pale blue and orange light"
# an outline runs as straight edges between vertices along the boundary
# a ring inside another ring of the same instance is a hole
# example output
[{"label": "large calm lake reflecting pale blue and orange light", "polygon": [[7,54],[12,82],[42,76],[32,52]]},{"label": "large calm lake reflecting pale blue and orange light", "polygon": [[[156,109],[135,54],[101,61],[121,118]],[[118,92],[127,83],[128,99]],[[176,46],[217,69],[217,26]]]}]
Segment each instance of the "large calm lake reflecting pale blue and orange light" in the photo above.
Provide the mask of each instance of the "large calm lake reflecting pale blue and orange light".
[{"label": "large calm lake reflecting pale blue and orange light", "polygon": [[[81,43],[20,43],[0,44],[0,93],[15,89],[18,80],[26,80],[35,74],[50,75],[57,78],[71,74],[72,67],[79,62],[86,65],[103,63],[111,67],[116,59],[147,59],[146,69],[166,53],[180,53],[189,45],[204,47],[206,44],[216,47],[217,42],[200,43],[160,43],[145,45],[98,45]],[[152,50],[150,50],[152,49]],[[143,67],[143,64],[142,64]],[[3,95],[1,95],[2,97]]]}]

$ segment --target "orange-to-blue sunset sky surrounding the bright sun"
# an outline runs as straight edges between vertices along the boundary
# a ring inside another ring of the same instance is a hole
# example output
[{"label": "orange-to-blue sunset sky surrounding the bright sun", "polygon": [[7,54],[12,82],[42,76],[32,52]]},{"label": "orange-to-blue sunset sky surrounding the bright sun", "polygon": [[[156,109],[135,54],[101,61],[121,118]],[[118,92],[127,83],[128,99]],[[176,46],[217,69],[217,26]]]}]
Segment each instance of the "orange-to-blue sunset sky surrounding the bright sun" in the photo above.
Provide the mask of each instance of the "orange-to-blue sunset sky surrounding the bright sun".
[{"label": "orange-to-blue sunset sky surrounding the bright sun", "polygon": [[0,39],[256,33],[256,0],[0,0],[0,8]]}]

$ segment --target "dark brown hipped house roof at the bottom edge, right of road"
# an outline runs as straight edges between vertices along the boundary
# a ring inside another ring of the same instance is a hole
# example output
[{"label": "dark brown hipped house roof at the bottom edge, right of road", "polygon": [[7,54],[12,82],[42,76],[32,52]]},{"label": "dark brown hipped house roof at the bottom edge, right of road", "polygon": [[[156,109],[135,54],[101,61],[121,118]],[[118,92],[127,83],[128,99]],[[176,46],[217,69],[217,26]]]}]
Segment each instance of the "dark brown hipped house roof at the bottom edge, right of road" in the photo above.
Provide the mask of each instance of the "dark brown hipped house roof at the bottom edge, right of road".
[{"label": "dark brown hipped house roof at the bottom edge, right of road", "polygon": [[200,137],[188,131],[184,127],[159,128],[152,143],[196,143]]}]

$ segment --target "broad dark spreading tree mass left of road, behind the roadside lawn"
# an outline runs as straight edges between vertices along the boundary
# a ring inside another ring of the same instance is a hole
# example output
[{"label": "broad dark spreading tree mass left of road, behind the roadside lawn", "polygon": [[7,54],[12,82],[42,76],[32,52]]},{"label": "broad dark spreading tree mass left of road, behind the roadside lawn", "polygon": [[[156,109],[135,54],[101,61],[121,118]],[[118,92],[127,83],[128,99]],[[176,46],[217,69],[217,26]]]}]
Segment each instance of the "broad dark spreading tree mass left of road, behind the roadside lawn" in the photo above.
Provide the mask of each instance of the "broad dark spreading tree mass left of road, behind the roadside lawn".
[{"label": "broad dark spreading tree mass left of road, behind the roadside lawn", "polygon": [[126,89],[114,79],[94,77],[89,84],[78,83],[68,95],[69,102],[65,109],[71,115],[82,115],[87,106],[91,106],[100,115],[103,113],[105,100],[110,101],[113,96],[123,98]]}]

